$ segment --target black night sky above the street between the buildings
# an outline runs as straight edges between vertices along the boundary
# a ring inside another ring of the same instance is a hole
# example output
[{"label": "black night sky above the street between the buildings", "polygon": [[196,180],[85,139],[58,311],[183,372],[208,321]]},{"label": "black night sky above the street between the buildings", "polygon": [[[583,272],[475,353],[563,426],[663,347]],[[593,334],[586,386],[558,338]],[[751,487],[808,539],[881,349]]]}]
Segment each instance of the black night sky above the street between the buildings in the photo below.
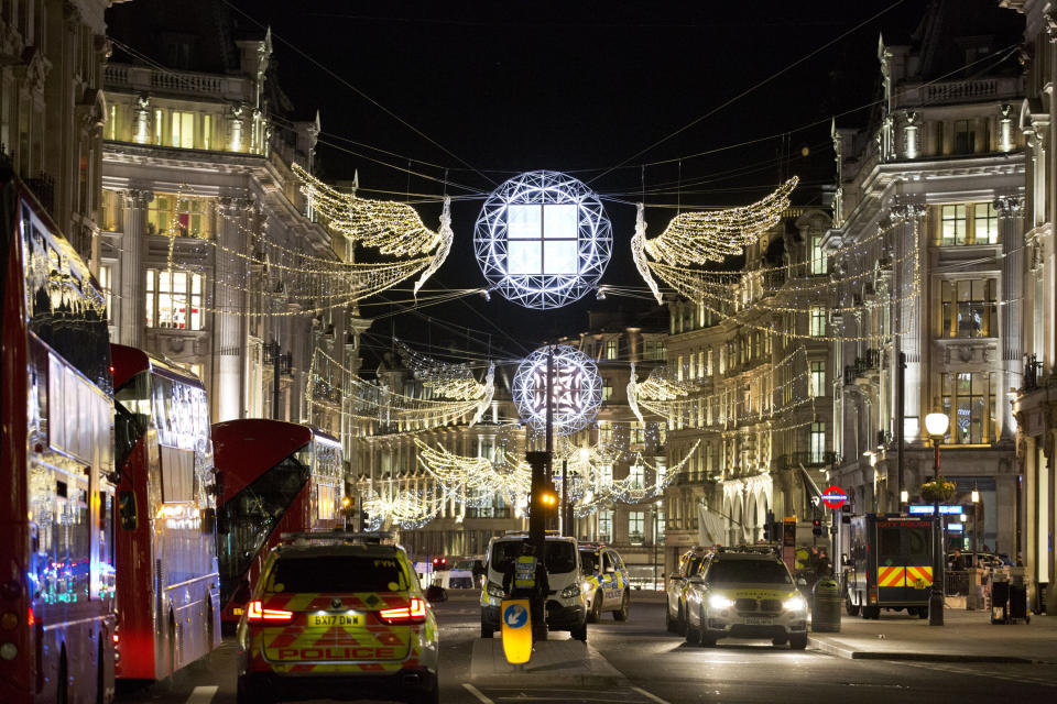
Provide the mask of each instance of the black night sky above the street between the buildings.
[{"label": "black night sky above the street between the buildings", "polygon": [[[358,169],[361,195],[368,197],[404,197],[368,189],[433,197],[444,191],[443,184],[408,178],[370,157],[400,167],[410,163],[440,179],[447,169],[448,193],[472,196],[454,208],[456,244],[432,282],[455,288],[483,283],[472,255],[473,222],[492,182],[521,170],[573,172],[606,198],[614,257],[603,283],[623,286],[643,285],[628,250],[630,204],[642,198],[643,178],[651,205],[734,206],[798,174],[803,183],[794,200],[818,202],[820,186],[832,182],[830,116],[876,98],[879,32],[905,38],[926,6],[925,0],[230,1],[271,25],[281,85],[298,117],[319,109],[320,169],[327,178]],[[892,9],[848,37],[635,156],[886,8]],[[861,110],[839,123],[860,125],[868,118]],[[693,156],[742,142],[752,144]],[[625,160],[626,166],[601,175]],[[656,163],[664,160],[675,161]],[[436,226],[439,206],[423,205],[419,212]],[[675,212],[647,211],[650,234]],[[547,336],[575,334],[586,324],[587,309],[617,305],[613,297],[604,304],[589,298],[537,312],[499,296],[491,302],[475,296],[395,316],[395,329],[434,344],[453,339],[462,346],[469,339],[475,352],[483,351],[490,333],[493,350],[519,354],[521,345],[533,348]],[[394,310],[372,305],[363,315]],[[384,344],[390,327],[391,319],[379,320],[371,329],[378,337],[368,342]]]}]

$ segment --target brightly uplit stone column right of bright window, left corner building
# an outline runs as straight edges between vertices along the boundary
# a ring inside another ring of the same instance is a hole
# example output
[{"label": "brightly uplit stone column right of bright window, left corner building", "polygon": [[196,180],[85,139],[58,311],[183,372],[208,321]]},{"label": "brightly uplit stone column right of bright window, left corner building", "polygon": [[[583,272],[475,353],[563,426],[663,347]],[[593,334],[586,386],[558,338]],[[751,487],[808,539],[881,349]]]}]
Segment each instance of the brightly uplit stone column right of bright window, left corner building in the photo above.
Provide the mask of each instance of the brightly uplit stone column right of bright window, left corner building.
[{"label": "brightly uplit stone column right of bright window, left corner building", "polygon": [[[242,415],[244,369],[242,354],[246,343],[242,332],[242,292],[247,285],[246,262],[229,252],[246,250],[250,200],[220,198],[217,222],[217,243],[213,280],[213,388],[214,422],[233,420]],[[228,250],[229,252],[225,252]],[[228,312],[230,311],[230,312]]]}]

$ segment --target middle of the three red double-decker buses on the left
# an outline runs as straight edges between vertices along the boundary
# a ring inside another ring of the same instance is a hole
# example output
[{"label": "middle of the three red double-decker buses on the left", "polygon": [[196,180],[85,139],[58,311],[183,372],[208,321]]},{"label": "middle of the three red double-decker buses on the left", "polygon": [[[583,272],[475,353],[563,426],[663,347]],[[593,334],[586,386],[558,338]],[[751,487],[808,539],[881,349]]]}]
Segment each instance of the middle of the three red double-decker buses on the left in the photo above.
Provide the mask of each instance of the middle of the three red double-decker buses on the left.
[{"label": "middle of the three red double-decker buses on the left", "polygon": [[119,680],[161,680],[220,645],[216,476],[201,381],[110,345],[118,468]]}]

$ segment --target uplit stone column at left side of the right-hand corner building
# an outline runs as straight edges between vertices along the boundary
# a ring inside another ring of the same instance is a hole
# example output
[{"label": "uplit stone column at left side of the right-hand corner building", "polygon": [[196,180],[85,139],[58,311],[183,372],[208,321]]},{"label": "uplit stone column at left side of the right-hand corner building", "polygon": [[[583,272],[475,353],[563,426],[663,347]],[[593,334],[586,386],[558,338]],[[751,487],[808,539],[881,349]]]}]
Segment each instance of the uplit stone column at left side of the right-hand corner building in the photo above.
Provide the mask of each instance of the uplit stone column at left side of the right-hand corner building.
[{"label": "uplit stone column at left side of the right-hand corner building", "polygon": [[[925,300],[928,296],[926,280],[928,278],[928,233],[926,231],[925,205],[917,197],[897,196],[892,206],[890,218],[895,229],[890,237],[895,252],[895,288],[892,297],[895,301],[893,332],[900,334],[900,349],[906,355],[906,373],[903,387],[904,426],[909,426],[917,432],[904,437],[904,442],[911,443],[920,439],[922,409],[931,400],[922,398],[928,389],[928,326],[922,324],[926,311]],[[917,246],[915,249],[915,229]],[[912,296],[917,286],[917,295]],[[893,352],[894,355],[894,352]],[[892,360],[892,369],[898,360]],[[900,389],[895,388],[896,375],[892,375],[892,398],[898,398]],[[894,403],[894,402],[893,402]],[[893,406],[894,409],[894,406]],[[904,433],[904,428],[896,428]]]}]

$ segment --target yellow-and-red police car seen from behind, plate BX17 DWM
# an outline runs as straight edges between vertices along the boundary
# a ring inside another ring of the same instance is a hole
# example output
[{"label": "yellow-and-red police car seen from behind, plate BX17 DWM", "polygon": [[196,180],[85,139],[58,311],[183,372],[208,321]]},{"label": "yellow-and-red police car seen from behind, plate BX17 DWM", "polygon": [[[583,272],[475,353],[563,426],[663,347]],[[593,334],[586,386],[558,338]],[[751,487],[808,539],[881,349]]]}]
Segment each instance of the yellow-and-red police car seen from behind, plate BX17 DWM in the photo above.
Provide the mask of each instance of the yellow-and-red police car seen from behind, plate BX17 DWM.
[{"label": "yellow-and-red police car seen from behind, plate BX17 DWM", "polygon": [[283,538],[239,623],[239,704],[439,702],[437,622],[403,548],[371,535]]}]

